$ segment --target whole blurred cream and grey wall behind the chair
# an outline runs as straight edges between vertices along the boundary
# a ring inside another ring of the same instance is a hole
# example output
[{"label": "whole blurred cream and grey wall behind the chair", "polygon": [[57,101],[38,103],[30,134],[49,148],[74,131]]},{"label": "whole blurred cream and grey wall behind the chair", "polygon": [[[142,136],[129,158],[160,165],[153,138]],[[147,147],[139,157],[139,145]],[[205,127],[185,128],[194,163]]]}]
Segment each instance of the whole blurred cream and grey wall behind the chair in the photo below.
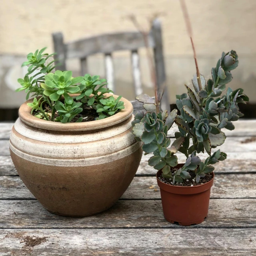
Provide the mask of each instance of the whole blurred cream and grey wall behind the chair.
[{"label": "whole blurred cream and grey wall behind the chair", "polygon": [[[238,52],[240,65],[234,70],[232,88],[244,87],[256,102],[256,0],[186,0],[190,14],[199,68],[205,76],[222,51]],[[62,31],[65,41],[113,31],[134,30],[126,17],[137,16],[146,28],[147,19],[161,13],[167,84],[171,102],[184,92],[195,73],[190,40],[178,0],[1,0],[0,4],[0,107],[19,105],[22,92],[13,94],[16,80],[24,73],[20,64],[28,52],[48,46],[52,32]],[[140,66],[145,92],[152,94],[144,51]],[[20,57],[19,57],[20,56]],[[68,68],[78,74],[78,60]],[[116,93],[134,98],[130,55],[114,54]],[[89,58],[89,71],[104,76],[100,56]],[[14,96],[15,95],[15,96]],[[14,99],[10,101],[10,96]]]}]

